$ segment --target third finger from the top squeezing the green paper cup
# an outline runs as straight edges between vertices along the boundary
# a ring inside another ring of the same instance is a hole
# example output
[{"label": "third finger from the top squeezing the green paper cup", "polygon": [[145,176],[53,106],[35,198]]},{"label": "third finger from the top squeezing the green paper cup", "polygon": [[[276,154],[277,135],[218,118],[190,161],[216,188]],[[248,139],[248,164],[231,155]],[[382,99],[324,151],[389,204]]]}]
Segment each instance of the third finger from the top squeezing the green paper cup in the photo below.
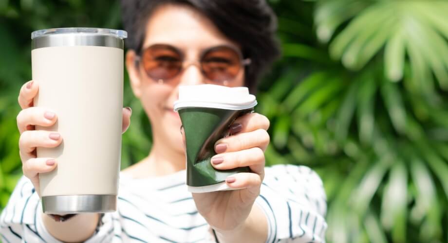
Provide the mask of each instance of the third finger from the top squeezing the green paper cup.
[{"label": "third finger from the top squeezing the green paper cup", "polygon": [[211,164],[218,170],[230,170],[249,166],[253,172],[262,174],[264,171],[264,152],[261,148],[255,147],[237,152],[218,154],[211,158]]}]

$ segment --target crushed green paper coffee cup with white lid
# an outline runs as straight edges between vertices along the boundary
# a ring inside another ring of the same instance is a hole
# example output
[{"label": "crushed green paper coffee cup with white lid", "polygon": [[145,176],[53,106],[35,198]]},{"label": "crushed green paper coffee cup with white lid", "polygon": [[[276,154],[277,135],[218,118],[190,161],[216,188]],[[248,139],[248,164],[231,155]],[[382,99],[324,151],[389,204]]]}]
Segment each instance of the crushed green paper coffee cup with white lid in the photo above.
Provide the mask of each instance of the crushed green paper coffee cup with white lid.
[{"label": "crushed green paper coffee cup with white lid", "polygon": [[210,159],[216,141],[228,136],[229,126],[238,117],[253,111],[257,105],[247,87],[195,85],[179,87],[179,100],[174,111],[179,113],[184,127],[187,157],[188,191],[201,193],[233,190],[225,178],[243,172],[248,167],[217,170]]}]

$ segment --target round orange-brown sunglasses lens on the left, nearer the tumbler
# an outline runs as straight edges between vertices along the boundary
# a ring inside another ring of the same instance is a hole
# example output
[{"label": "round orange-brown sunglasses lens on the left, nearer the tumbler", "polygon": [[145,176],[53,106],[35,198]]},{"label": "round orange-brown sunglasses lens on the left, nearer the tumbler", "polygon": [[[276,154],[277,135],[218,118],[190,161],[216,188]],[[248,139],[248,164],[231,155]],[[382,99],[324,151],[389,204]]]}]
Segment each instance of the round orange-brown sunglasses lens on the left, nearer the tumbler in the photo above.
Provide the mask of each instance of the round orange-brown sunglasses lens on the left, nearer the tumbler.
[{"label": "round orange-brown sunglasses lens on the left, nearer the tumbler", "polygon": [[154,81],[166,81],[175,77],[182,69],[181,55],[165,45],[155,45],[143,52],[143,68]]}]

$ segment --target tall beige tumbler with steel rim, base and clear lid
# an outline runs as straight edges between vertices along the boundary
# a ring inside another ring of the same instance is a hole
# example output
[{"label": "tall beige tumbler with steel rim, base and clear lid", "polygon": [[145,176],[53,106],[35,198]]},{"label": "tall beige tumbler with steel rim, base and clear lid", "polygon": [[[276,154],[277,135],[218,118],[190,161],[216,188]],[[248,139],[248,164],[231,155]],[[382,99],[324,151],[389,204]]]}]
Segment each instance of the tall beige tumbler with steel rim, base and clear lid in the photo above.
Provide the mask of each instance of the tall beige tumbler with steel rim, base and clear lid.
[{"label": "tall beige tumbler with steel rim, base and clear lid", "polygon": [[35,106],[52,110],[57,122],[36,130],[56,131],[62,143],[37,148],[57,161],[39,174],[44,213],[116,210],[123,107],[121,30],[61,28],[31,34]]}]

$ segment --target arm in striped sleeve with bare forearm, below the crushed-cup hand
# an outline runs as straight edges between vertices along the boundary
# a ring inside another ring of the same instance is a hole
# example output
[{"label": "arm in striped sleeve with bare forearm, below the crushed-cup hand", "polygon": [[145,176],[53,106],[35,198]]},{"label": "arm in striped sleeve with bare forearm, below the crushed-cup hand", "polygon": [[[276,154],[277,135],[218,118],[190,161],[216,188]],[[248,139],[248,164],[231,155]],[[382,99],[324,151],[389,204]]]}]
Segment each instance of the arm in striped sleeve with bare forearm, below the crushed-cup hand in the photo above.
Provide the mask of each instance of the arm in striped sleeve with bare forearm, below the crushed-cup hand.
[{"label": "arm in striped sleeve with bare forearm, below the crushed-cup hand", "polygon": [[266,176],[244,225],[215,230],[220,243],[323,243],[325,192],[318,175],[304,166],[277,165]]}]

